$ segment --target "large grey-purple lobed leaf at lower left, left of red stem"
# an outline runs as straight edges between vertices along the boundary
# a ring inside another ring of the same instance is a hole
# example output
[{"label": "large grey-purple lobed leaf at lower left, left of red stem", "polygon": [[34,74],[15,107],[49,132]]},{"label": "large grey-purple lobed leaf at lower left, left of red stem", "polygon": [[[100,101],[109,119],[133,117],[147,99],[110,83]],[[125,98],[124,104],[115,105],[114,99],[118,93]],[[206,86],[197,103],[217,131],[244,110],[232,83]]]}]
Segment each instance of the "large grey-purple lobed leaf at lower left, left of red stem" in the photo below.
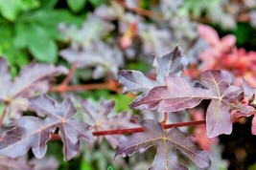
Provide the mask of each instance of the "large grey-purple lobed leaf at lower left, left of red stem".
[{"label": "large grey-purple lobed leaf at lower left, left of red stem", "polygon": [[92,141],[88,126],[71,119],[76,113],[73,103],[66,98],[61,104],[46,95],[30,98],[30,105],[40,117],[21,117],[10,124],[0,139],[0,154],[17,158],[30,148],[37,159],[47,150],[46,143],[58,128],[58,135],[64,143],[64,159],[69,160],[79,152],[79,140]]}]

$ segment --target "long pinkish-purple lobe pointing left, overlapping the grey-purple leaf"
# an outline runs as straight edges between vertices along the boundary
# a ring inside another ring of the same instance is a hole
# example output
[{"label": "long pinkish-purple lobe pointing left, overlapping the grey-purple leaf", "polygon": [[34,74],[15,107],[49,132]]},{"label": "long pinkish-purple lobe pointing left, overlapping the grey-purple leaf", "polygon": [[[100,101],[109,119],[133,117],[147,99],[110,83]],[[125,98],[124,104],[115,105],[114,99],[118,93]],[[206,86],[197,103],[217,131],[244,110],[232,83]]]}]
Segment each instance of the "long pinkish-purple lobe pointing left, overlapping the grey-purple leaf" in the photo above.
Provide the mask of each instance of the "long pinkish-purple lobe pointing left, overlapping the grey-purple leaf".
[{"label": "long pinkish-purple lobe pointing left, overlapping the grey-purple leaf", "polygon": [[135,100],[130,107],[145,105],[148,109],[157,108],[160,112],[175,112],[193,108],[204,98],[210,98],[208,90],[196,88],[191,83],[178,76],[165,77],[166,86],[158,86],[151,90],[148,96]]}]

